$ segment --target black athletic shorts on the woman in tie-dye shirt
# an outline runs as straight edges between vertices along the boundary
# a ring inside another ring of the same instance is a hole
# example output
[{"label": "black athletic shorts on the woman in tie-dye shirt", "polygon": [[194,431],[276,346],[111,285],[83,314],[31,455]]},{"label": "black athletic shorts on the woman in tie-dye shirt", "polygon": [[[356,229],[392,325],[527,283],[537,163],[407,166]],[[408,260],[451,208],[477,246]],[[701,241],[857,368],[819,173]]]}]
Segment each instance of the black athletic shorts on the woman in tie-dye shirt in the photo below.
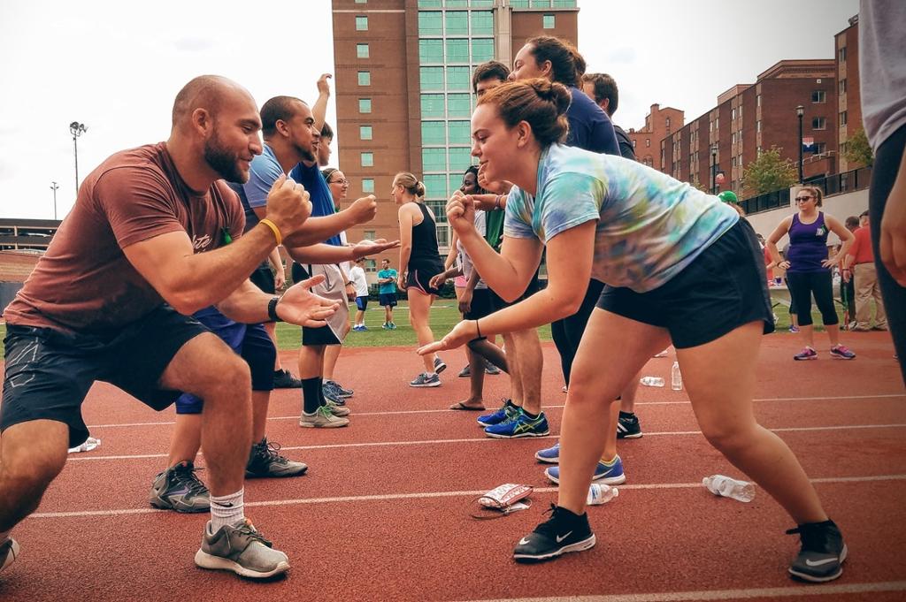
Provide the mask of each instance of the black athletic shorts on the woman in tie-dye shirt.
[{"label": "black athletic shorts on the woman in tie-dye shirt", "polygon": [[666,284],[649,292],[605,286],[598,307],[670,331],[677,349],[704,345],[748,322],[774,331],[765,260],[741,218]]}]

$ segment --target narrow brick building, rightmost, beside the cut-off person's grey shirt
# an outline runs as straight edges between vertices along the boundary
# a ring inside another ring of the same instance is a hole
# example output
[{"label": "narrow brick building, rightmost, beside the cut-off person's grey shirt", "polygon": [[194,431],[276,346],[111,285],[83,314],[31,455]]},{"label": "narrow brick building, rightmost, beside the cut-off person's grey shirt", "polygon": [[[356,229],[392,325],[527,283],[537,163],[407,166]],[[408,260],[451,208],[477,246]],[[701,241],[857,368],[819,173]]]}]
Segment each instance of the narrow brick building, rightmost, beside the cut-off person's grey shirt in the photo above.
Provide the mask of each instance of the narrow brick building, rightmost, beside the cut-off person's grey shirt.
[{"label": "narrow brick building, rightmost, beside the cut-off person's grey shirt", "polygon": [[862,98],[859,92],[859,15],[849,20],[849,27],[834,36],[837,67],[837,141],[840,148],[839,169],[849,171],[860,165],[846,160],[846,146],[862,126]]}]

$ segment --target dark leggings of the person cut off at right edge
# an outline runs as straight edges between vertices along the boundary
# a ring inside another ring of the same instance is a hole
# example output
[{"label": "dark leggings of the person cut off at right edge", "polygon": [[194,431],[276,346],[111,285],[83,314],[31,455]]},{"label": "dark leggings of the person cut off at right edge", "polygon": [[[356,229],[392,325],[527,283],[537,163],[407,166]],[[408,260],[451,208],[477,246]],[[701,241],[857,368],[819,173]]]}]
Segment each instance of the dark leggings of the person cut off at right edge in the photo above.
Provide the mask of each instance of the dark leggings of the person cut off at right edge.
[{"label": "dark leggings of the person cut off at right edge", "polygon": [[[897,357],[900,358],[903,382],[906,382],[906,288],[893,280],[891,272],[888,272],[881,263],[881,251],[878,248],[881,241],[884,205],[887,205],[887,197],[890,196],[893,182],[897,179],[904,147],[906,147],[906,125],[893,132],[878,147],[872,169],[872,186],[868,191],[868,211],[871,217],[869,225],[872,228],[874,265],[878,269],[878,282],[881,284],[884,310],[887,311],[887,326],[891,329],[893,345],[897,350]],[[906,174],[901,174],[900,177],[906,177]]]}]

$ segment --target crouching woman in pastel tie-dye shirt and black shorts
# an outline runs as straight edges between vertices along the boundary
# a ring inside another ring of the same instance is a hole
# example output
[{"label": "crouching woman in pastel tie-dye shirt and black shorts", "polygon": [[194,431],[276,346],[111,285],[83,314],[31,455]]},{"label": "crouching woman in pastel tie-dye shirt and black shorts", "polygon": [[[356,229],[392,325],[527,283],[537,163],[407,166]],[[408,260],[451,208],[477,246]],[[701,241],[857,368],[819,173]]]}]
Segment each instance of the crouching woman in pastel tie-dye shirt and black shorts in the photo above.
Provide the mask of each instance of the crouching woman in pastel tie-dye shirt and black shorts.
[{"label": "crouching woman in pastel tie-dye shirt and black shorts", "polygon": [[839,577],[840,531],[793,453],[752,412],[759,343],[774,328],[752,227],[717,197],[650,167],[561,146],[568,104],[569,92],[544,80],[507,83],[479,101],[472,154],[488,180],[516,185],[501,253],[476,232],[470,197],[450,199],[449,223],[504,299],[525,289],[545,247],[548,285],[486,318],[459,322],[419,350],[546,324],[579,307],[589,277],[607,285],[573,367],[558,504],[514,557],[551,559],[594,545],[585,498],[605,434],[615,428],[610,404],[672,341],[702,433],[798,523],[803,544],[790,572],[812,581]]}]

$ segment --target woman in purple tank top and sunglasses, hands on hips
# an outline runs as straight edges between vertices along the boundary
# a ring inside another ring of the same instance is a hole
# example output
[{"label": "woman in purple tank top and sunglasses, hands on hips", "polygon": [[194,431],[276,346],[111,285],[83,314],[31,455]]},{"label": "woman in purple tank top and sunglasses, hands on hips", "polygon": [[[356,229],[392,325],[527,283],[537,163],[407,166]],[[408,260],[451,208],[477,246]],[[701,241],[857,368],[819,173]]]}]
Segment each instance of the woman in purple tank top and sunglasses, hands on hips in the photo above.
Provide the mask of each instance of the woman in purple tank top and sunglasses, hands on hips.
[{"label": "woman in purple tank top and sunglasses, hands on hips", "polygon": [[[831,356],[853,359],[855,354],[840,344],[840,319],[834,307],[834,288],[831,268],[840,263],[850,245],[853,233],[843,227],[836,218],[818,211],[821,206],[821,189],[805,186],[796,193],[795,202],[799,212],[790,215],[777,226],[768,237],[765,246],[780,268],[786,269],[786,285],[790,299],[799,316],[799,331],[805,348],[793,356],[794,359],[817,359],[814,350],[812,328],[812,295],[821,311],[824,330],[831,339]],[[834,257],[827,256],[827,234],[833,232],[842,242],[840,251]],[[780,261],[777,242],[789,234],[790,248],[785,261]]]}]

